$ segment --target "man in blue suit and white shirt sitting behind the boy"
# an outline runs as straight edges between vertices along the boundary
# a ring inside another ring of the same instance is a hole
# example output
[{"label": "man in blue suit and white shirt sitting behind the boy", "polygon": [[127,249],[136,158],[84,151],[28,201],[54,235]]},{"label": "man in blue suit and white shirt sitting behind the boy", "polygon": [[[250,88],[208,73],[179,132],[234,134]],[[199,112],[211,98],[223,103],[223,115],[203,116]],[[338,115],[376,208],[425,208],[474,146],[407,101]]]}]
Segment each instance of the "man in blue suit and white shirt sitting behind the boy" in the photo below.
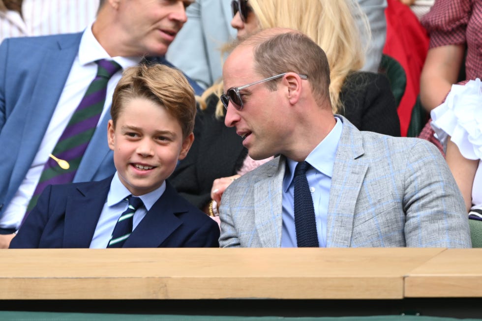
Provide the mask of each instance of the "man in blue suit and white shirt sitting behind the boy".
[{"label": "man in blue suit and white shirt sitting behind the boy", "polygon": [[[38,194],[37,182],[45,164],[49,157],[56,158],[54,147],[100,71],[101,63],[98,68],[97,62],[112,59],[117,63],[112,65],[122,69],[145,57],[167,63],[163,55],[186,22],[185,6],[191,2],[108,0],[101,5],[91,28],[83,33],[2,42],[0,233],[10,234],[0,235],[0,247],[8,246],[32,195]],[[105,102],[97,122],[101,130],[95,130],[87,140],[74,182],[100,180],[115,173],[105,139],[112,92],[121,78],[121,70],[113,70],[118,71],[104,87]],[[197,85],[191,85],[200,93]],[[78,163],[79,158],[75,161]]]}]

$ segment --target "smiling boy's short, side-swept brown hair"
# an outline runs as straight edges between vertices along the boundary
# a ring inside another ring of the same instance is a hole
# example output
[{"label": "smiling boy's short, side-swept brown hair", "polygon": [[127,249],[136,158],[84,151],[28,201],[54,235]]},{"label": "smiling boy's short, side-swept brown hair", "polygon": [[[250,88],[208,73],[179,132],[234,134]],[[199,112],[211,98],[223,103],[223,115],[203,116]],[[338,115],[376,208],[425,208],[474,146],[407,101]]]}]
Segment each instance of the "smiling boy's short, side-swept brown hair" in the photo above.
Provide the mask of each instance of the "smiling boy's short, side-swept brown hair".
[{"label": "smiling boy's short, side-swept brown hair", "polygon": [[112,97],[114,127],[124,103],[133,98],[146,98],[163,106],[178,119],[183,138],[192,133],[196,100],[194,89],[181,71],[162,64],[140,64],[125,69]]}]

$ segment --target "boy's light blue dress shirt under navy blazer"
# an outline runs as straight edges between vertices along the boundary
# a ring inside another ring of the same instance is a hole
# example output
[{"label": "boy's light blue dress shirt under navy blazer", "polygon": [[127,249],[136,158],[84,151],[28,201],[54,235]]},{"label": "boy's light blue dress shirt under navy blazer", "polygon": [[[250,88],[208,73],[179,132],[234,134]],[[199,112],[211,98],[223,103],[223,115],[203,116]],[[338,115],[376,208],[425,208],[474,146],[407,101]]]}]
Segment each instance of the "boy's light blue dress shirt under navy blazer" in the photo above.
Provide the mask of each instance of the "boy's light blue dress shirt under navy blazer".
[{"label": "boy's light blue dress shirt under navy blazer", "polygon": [[[164,181],[159,188],[150,193],[139,196],[142,203],[144,203],[144,206],[138,208],[134,213],[132,230],[134,230],[139,222],[142,221],[152,205],[157,202],[165,190],[166,182]],[[129,192],[129,190],[121,183],[119,175],[116,172],[114,178],[112,178],[107,199],[102,208],[102,212],[100,213],[97,226],[95,227],[94,236],[90,242],[91,249],[105,249],[107,247],[119,217],[122,212],[127,209],[128,203],[124,200],[129,195],[131,195],[131,192]]]}]

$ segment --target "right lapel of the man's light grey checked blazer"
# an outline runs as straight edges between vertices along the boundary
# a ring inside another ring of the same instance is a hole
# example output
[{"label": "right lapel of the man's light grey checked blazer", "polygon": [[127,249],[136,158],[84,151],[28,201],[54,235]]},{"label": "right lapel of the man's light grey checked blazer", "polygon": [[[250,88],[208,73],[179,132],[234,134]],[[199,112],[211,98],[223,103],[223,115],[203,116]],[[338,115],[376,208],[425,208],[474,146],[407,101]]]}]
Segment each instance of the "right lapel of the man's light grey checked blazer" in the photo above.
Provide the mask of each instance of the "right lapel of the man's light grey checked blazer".
[{"label": "right lapel of the man's light grey checked blazer", "polygon": [[328,204],[327,247],[349,247],[353,232],[355,206],[368,165],[363,155],[361,134],[346,118],[343,121],[331,178]]}]

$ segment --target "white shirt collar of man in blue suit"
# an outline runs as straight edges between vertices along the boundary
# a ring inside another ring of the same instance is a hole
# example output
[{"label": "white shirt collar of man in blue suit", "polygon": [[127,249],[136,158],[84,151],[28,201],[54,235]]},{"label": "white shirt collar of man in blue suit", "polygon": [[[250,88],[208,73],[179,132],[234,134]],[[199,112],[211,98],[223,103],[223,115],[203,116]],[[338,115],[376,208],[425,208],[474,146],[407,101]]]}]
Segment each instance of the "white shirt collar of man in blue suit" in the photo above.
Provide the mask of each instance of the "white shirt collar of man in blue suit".
[{"label": "white shirt collar of man in blue suit", "polygon": [[142,60],[142,57],[109,56],[97,39],[95,39],[94,34],[92,33],[92,24],[90,24],[90,26],[84,30],[82,38],[80,39],[79,62],[84,66],[98,59],[113,59],[121,65],[122,69],[126,69],[138,64]]}]

